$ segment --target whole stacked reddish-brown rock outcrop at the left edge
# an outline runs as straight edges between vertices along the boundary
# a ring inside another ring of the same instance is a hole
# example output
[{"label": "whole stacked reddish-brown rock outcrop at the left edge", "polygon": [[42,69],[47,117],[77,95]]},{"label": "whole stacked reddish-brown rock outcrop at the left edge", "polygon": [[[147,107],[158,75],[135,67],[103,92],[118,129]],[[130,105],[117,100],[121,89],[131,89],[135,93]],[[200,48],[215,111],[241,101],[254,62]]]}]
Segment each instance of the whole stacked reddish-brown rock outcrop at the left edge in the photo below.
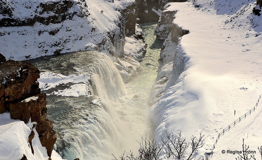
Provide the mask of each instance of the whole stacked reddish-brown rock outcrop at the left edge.
[{"label": "whole stacked reddish-brown rock outcrop at the left edge", "polygon": [[[28,136],[32,154],[34,154],[32,140],[35,135],[33,129],[36,127],[39,140],[51,159],[56,134],[52,121],[46,119],[46,95],[40,94],[37,82],[40,71],[26,61],[6,61],[1,54],[0,57],[0,113],[9,111],[11,119],[19,119],[24,123],[35,122]],[[20,156],[26,159],[26,155]]]}]

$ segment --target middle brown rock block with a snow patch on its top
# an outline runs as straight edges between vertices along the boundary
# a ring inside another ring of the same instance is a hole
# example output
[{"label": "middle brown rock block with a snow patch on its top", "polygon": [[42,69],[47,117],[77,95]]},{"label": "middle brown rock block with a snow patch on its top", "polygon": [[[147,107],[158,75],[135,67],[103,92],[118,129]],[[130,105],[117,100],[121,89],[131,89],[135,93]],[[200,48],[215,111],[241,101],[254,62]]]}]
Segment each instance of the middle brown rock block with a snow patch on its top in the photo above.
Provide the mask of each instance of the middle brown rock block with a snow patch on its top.
[{"label": "middle brown rock block with a snow patch on its top", "polygon": [[9,108],[12,119],[20,119],[27,123],[31,116],[32,122],[41,123],[45,121],[47,114],[46,95],[39,94],[21,102],[11,103],[9,104]]}]

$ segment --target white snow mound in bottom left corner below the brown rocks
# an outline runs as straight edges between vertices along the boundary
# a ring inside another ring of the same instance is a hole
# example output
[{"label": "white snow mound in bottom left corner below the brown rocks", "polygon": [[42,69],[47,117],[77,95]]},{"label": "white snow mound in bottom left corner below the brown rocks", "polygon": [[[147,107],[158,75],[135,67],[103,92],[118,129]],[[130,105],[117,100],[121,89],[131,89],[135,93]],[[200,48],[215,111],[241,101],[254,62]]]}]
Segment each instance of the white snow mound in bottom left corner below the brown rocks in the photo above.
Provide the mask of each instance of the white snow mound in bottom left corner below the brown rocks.
[{"label": "white snow mound in bottom left corner below the brown rocks", "polygon": [[[38,134],[34,128],[35,136],[32,140],[34,148],[34,155],[28,143],[28,136],[32,126],[31,120],[28,124],[23,121],[14,120],[10,118],[10,113],[0,114],[0,159],[1,160],[17,160],[26,155],[28,160],[48,159],[45,147],[42,147]],[[54,150],[52,152],[52,159],[62,160]]]}]

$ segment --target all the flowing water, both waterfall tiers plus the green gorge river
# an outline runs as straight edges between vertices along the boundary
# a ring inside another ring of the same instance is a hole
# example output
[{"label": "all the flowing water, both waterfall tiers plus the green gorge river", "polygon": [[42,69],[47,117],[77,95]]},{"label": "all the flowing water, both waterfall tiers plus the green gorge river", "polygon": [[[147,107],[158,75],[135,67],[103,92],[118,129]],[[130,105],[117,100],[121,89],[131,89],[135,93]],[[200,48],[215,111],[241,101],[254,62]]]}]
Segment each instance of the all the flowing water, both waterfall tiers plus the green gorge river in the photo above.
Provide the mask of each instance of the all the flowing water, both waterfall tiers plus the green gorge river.
[{"label": "all the flowing water, both waterfall tiers plus the green gorge river", "polygon": [[[111,153],[118,156],[124,150],[137,151],[136,140],[149,132],[148,98],[161,65],[163,41],[155,39],[155,26],[142,25],[149,46],[141,63],[144,71],[128,84],[123,83],[112,60],[95,51],[30,61],[41,71],[39,81],[45,75],[51,83],[41,83],[47,89],[42,92],[48,94],[47,115],[57,131],[54,149],[64,159],[105,160],[113,158]],[[76,83],[85,87],[74,89]],[[79,96],[63,96],[65,90]],[[89,92],[92,95],[85,94]]]}]

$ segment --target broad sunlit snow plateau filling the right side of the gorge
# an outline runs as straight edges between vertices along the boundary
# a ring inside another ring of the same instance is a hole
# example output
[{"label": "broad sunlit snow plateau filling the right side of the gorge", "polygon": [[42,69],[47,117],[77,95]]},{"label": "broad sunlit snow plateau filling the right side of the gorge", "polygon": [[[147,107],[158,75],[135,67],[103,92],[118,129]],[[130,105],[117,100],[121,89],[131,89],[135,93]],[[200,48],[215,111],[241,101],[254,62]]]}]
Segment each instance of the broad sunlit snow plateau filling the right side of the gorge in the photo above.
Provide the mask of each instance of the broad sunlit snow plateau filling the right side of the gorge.
[{"label": "broad sunlit snow plateau filling the right side of the gorge", "polygon": [[[151,95],[151,102],[156,103],[150,109],[150,119],[158,142],[165,135],[164,129],[182,131],[188,140],[190,135],[201,133],[205,145],[198,153],[203,155],[211,152],[219,132],[254,107],[262,93],[262,17],[252,13],[255,2],[194,0],[168,4],[167,11],[177,10],[173,23],[189,34],[180,38],[176,51],[175,44],[166,41],[165,49],[173,57],[165,53],[169,58],[163,58],[166,65],[160,74],[169,77],[169,84],[159,97]],[[161,76],[158,81],[166,82]],[[236,154],[223,154],[222,150],[241,151],[242,138],[258,153],[257,147],[262,145],[261,111],[259,103],[254,113],[220,137],[212,159],[235,159]]]}]

